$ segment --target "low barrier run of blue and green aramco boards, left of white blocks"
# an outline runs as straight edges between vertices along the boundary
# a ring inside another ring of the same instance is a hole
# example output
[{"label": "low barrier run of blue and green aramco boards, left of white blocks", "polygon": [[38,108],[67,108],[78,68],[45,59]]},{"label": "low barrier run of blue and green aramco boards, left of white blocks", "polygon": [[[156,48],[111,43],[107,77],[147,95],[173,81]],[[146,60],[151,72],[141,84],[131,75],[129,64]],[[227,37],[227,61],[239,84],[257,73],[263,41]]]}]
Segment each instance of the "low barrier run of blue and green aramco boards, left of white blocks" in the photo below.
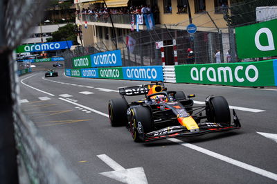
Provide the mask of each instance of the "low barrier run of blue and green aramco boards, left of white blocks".
[{"label": "low barrier run of blue and green aramco boards, left of white blocks", "polygon": [[162,66],[114,67],[114,68],[76,68],[65,69],[71,77],[104,78],[115,80],[163,81]]}]

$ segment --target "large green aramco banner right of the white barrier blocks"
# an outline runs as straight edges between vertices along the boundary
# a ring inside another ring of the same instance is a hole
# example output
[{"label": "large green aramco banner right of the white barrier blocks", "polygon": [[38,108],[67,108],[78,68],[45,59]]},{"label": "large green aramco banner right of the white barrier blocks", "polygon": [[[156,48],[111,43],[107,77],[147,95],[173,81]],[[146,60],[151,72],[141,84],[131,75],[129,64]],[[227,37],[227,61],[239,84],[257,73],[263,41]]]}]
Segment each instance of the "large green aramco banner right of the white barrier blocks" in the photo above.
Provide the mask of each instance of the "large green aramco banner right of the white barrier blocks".
[{"label": "large green aramco banner right of the white barrier blocks", "polygon": [[[175,66],[177,83],[276,86],[277,60]],[[275,74],[275,75],[274,75]]]}]

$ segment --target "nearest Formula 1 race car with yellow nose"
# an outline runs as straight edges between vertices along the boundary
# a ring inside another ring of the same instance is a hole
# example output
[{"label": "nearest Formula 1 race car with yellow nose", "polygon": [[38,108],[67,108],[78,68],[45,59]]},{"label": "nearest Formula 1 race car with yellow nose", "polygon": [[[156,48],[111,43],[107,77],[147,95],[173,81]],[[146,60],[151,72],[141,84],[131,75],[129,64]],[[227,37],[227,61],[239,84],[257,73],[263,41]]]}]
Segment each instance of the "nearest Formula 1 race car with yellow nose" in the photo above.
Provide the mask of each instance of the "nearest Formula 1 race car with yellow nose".
[{"label": "nearest Formula 1 race car with yellow nose", "polygon": [[[109,100],[112,127],[125,125],[135,142],[148,142],[178,136],[198,136],[240,129],[240,121],[222,96],[209,95],[205,104],[195,106],[183,91],[168,91],[163,82],[120,88],[122,98]],[[128,103],[125,96],[145,95]]]}]

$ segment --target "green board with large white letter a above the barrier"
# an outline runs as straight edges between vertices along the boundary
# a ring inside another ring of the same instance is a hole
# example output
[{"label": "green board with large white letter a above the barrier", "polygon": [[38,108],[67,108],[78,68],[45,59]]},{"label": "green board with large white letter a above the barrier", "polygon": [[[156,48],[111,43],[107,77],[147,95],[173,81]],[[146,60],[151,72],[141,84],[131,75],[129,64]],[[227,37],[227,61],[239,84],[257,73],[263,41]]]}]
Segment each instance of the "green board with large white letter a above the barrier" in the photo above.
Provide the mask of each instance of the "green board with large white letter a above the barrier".
[{"label": "green board with large white letter a above the barrier", "polygon": [[277,55],[277,19],[235,28],[240,59]]}]

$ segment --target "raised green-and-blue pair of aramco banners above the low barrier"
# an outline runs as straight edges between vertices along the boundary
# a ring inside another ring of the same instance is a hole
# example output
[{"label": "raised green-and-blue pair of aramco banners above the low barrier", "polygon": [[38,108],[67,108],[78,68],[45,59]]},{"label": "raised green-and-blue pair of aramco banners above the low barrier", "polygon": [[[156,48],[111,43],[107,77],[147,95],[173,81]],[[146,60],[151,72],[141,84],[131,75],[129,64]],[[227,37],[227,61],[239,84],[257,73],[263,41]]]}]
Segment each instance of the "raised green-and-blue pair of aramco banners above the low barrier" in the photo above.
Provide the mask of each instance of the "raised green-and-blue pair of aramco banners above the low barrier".
[{"label": "raised green-and-blue pair of aramco banners above the low barrier", "polygon": [[72,66],[73,68],[122,66],[121,53],[120,50],[112,50],[105,53],[73,57]]}]

